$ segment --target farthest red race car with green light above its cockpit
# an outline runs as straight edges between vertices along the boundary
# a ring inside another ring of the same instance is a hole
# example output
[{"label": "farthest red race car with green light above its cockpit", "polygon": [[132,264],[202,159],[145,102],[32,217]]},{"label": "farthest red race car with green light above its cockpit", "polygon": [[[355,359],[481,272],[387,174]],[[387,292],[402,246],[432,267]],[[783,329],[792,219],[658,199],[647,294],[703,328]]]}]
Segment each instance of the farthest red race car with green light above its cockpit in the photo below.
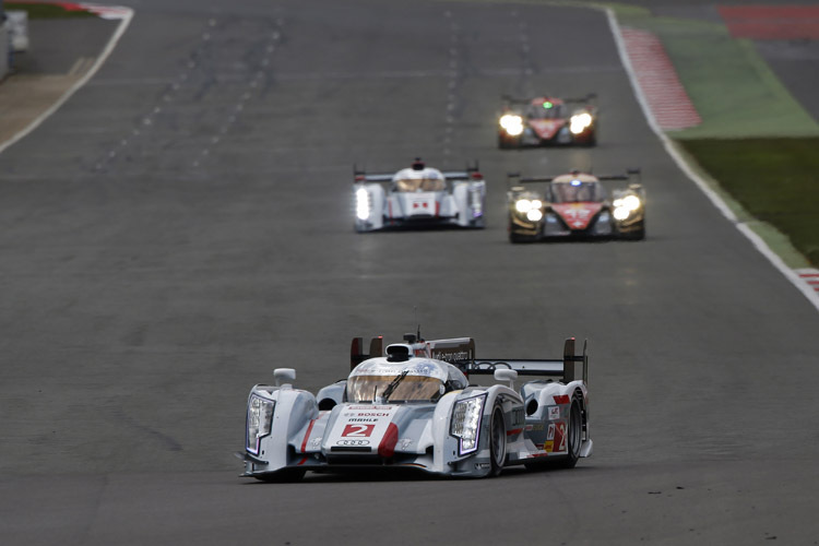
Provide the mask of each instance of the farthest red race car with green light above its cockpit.
[{"label": "farthest red race car with green light above its cockpit", "polygon": [[584,98],[511,98],[498,117],[498,147],[597,143],[596,95]]}]

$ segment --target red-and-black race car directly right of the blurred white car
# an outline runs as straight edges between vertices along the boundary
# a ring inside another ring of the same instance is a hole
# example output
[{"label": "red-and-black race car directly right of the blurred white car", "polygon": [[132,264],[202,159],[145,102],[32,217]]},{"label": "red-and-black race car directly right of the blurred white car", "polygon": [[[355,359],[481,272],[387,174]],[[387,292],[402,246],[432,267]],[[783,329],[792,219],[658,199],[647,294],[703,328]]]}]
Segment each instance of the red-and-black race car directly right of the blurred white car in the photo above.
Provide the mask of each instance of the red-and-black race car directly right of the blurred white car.
[{"label": "red-and-black race car directly right of the blurred white car", "polygon": [[[608,198],[602,180],[630,180],[625,175],[594,176],[578,170],[556,177],[509,175],[509,238],[526,242],[561,238],[645,238],[645,191],[640,183],[615,189]],[[541,191],[523,185],[542,182]]]}]

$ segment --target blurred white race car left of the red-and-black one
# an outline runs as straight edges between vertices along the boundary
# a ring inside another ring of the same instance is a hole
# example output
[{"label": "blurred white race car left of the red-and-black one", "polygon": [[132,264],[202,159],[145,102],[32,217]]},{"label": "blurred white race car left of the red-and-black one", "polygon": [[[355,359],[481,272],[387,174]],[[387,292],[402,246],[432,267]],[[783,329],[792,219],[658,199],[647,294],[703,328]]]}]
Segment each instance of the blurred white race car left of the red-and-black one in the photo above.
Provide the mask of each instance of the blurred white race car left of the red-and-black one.
[{"label": "blurred white race car left of the red-and-black one", "polygon": [[356,232],[426,226],[483,228],[486,181],[477,169],[438,170],[416,158],[397,173],[354,169]]}]

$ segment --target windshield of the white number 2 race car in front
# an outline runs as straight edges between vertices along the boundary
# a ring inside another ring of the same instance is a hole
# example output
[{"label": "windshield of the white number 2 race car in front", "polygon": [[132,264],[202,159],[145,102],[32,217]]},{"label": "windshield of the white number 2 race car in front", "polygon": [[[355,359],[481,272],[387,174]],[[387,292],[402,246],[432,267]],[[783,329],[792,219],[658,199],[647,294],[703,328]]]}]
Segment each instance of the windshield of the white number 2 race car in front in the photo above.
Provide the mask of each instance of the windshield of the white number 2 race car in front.
[{"label": "windshield of the white number 2 race car in front", "polygon": [[[387,391],[389,402],[436,402],[443,381],[426,376],[353,376],[347,380],[347,402],[372,402]],[[396,381],[397,380],[397,381]],[[388,391],[393,385],[392,392]]]}]

